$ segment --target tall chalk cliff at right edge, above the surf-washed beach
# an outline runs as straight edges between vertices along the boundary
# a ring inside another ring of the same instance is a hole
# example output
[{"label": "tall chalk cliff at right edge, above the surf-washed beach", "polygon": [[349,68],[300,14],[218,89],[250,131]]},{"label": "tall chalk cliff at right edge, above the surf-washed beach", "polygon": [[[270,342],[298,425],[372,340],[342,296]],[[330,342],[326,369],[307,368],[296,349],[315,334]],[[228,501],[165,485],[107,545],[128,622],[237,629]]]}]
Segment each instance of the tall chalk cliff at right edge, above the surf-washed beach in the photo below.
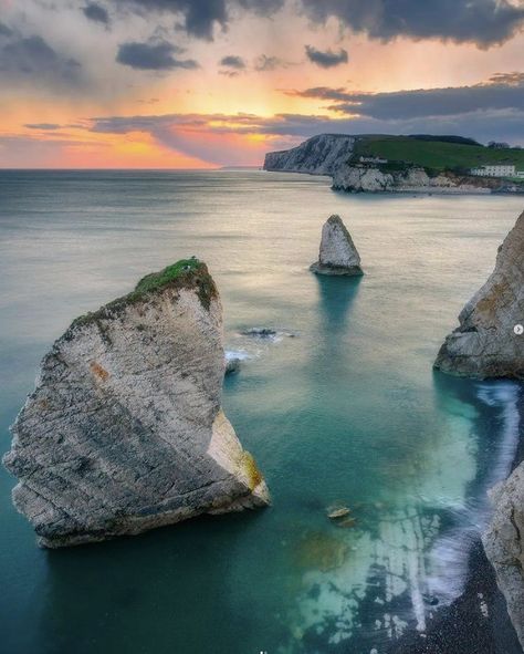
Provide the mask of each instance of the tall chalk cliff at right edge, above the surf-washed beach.
[{"label": "tall chalk cliff at right edge, above the surf-washed beach", "polygon": [[515,333],[515,326],[524,324],[524,212],[459,322],[440,349],[436,367],[470,377],[524,378],[524,334]]}]

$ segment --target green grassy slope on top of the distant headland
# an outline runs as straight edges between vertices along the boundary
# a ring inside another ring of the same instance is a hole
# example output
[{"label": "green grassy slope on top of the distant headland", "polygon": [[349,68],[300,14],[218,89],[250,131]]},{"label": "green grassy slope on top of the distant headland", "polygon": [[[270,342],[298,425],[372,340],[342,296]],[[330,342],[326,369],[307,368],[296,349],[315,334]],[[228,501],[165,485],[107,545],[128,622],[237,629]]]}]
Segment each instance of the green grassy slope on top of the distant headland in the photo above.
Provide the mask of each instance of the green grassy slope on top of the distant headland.
[{"label": "green grassy slope on top of the distant headland", "polygon": [[352,163],[360,156],[381,157],[434,170],[474,168],[483,165],[512,165],[524,170],[524,149],[493,149],[444,141],[425,141],[412,136],[373,135],[358,138]]}]

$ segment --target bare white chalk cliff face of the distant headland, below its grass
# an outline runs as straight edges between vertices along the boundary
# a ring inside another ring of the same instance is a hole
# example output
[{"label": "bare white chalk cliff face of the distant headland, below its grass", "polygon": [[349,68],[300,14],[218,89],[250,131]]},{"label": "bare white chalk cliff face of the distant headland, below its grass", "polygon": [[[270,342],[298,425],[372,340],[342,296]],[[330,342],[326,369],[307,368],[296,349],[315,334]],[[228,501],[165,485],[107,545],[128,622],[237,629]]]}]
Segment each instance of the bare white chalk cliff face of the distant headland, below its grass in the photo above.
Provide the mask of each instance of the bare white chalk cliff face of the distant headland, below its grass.
[{"label": "bare white chalk cliff face of the distant headland, below its grass", "polygon": [[522,193],[522,185],[493,177],[458,175],[451,170],[432,174],[420,166],[359,163],[355,155],[365,137],[322,134],[297,147],[268,153],[264,170],[329,175],[333,188],[350,193]]}]

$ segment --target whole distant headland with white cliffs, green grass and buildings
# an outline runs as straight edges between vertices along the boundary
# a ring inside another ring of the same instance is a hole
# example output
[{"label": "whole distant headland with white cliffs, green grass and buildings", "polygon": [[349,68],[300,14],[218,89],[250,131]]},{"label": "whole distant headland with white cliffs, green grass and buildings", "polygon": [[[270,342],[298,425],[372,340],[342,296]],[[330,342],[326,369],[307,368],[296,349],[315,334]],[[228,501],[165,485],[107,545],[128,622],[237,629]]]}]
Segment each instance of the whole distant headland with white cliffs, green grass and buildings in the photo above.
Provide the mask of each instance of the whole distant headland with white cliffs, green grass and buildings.
[{"label": "whole distant headland with white cliffs, green grass and buildings", "polygon": [[463,136],[321,134],[265,155],[265,170],[329,175],[346,191],[524,194],[524,149]]}]

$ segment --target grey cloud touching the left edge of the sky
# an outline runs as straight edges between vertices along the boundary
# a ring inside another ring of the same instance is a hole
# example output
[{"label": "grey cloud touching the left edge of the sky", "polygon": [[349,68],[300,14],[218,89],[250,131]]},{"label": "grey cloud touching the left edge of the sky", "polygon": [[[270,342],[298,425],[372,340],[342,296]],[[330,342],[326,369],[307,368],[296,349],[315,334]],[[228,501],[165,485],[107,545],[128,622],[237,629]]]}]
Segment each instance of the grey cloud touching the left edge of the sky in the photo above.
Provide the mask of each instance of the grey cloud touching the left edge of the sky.
[{"label": "grey cloud touching the left edge of the sky", "polygon": [[78,84],[81,64],[56,52],[42,37],[25,37],[2,25],[0,77],[41,83]]}]

